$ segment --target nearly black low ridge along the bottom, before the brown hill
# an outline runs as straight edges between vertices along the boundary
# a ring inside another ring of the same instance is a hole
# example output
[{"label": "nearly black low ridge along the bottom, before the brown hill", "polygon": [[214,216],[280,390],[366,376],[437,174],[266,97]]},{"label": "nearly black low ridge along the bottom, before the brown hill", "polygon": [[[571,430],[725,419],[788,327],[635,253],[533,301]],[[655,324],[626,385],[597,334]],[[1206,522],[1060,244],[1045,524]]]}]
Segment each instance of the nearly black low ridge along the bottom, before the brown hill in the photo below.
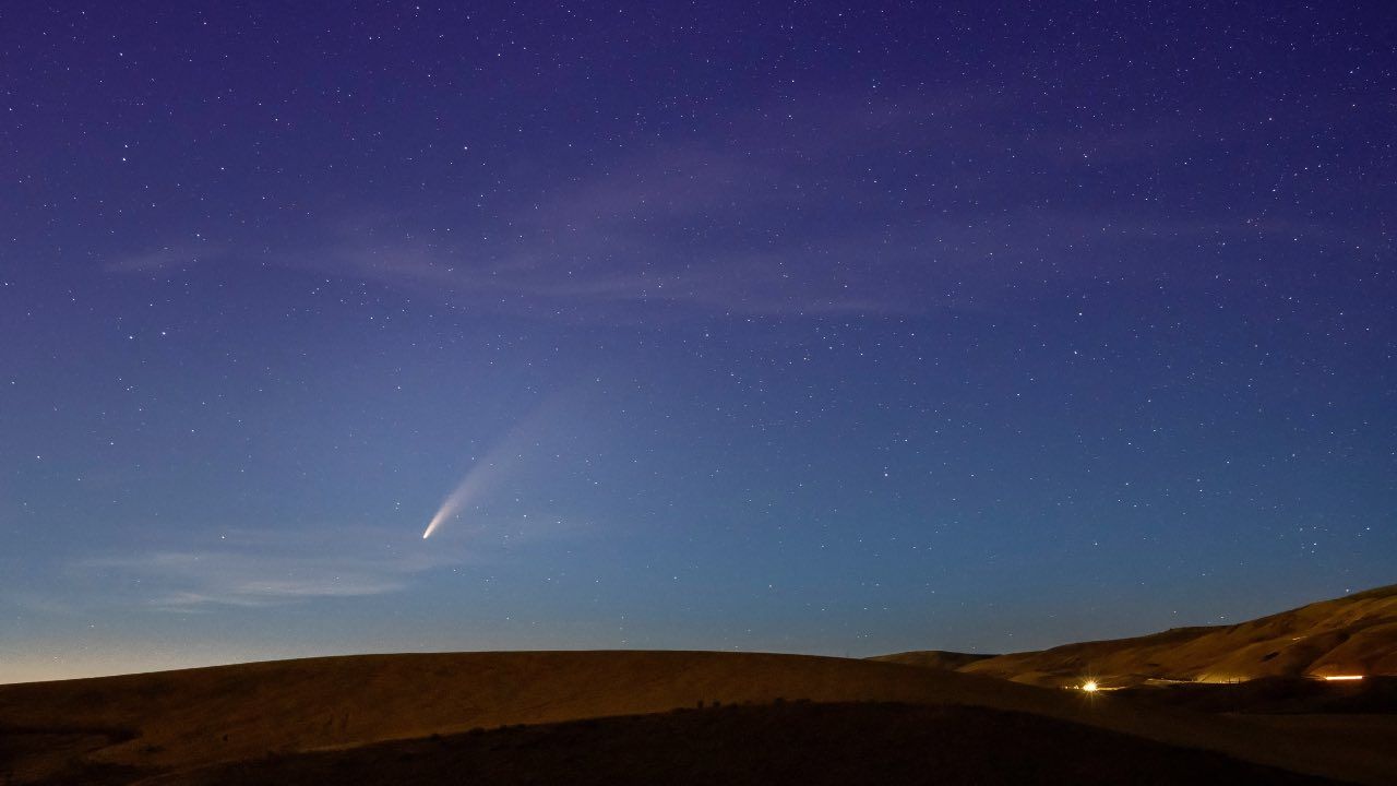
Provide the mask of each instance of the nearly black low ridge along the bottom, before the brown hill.
[{"label": "nearly black low ridge along the bottom, before the brown hill", "polygon": [[158,778],[159,786],[437,783],[1334,783],[1018,712],[782,702],[380,743]]}]

